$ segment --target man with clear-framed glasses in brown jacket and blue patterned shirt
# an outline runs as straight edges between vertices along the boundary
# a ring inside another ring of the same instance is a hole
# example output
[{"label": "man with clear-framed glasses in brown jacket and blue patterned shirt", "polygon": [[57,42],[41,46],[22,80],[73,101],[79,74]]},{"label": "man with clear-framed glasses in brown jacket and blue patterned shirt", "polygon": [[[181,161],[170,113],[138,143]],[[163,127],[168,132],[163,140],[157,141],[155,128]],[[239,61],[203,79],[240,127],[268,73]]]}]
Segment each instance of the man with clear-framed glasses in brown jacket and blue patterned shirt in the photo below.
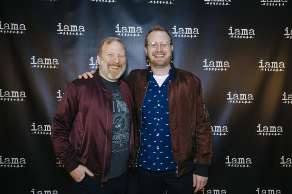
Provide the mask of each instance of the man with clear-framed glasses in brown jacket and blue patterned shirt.
[{"label": "man with clear-framed glasses in brown jacket and blue patterned shirt", "polygon": [[132,70],[125,79],[137,119],[139,194],[191,194],[192,186],[196,193],[208,180],[212,131],[201,81],[175,68],[172,50],[171,33],[153,26],[145,38],[150,67]]}]

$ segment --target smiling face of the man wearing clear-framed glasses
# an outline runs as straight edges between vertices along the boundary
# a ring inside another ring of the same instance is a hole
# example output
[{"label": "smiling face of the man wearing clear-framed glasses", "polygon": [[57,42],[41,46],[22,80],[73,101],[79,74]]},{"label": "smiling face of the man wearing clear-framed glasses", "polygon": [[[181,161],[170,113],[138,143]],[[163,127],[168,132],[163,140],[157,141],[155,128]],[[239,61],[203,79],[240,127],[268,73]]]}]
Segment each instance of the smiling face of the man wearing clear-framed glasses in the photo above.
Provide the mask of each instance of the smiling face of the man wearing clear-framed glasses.
[{"label": "smiling face of the man wearing clear-framed glasses", "polygon": [[[153,31],[149,33],[147,42],[169,42],[170,38],[166,32]],[[145,46],[145,52],[149,61],[149,65],[155,68],[164,68],[170,65],[172,58],[173,45],[169,45],[167,49],[162,49],[158,44],[156,49],[150,49],[149,46]]]}]

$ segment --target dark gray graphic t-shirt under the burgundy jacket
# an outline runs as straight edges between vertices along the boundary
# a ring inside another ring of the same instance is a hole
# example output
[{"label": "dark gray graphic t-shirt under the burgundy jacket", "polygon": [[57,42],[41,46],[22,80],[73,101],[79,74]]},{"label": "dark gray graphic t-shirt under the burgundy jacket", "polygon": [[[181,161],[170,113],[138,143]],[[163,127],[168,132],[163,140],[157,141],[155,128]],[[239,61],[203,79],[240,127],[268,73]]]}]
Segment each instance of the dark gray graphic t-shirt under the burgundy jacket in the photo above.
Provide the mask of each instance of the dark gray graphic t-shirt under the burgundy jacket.
[{"label": "dark gray graphic t-shirt under the burgundy jacket", "polygon": [[110,82],[103,78],[102,81],[112,91],[113,126],[109,178],[116,178],[128,168],[131,118],[118,81]]}]

